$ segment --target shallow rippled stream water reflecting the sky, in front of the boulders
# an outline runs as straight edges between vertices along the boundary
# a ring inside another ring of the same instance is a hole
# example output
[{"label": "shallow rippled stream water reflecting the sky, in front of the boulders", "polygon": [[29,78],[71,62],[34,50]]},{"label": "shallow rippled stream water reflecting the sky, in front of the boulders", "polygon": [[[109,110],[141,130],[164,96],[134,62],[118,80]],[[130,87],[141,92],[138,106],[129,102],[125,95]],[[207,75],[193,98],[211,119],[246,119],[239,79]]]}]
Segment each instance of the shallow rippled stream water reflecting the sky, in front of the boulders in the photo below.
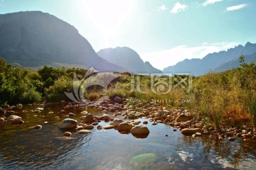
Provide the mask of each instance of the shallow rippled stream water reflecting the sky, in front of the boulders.
[{"label": "shallow rippled stream water reflecting the sky, in front of the boulders", "polygon": [[[58,114],[61,108],[32,113],[33,108],[16,113],[25,121],[23,125],[0,123],[0,169],[256,169],[255,140],[185,137],[169,125],[151,123],[146,125],[150,130],[146,138],[96,127],[90,134],[73,132],[63,138],[65,131],[58,124],[66,114]],[[102,115],[101,111],[90,113]],[[81,116],[72,118],[80,120]],[[38,124],[43,128],[30,128]]]}]

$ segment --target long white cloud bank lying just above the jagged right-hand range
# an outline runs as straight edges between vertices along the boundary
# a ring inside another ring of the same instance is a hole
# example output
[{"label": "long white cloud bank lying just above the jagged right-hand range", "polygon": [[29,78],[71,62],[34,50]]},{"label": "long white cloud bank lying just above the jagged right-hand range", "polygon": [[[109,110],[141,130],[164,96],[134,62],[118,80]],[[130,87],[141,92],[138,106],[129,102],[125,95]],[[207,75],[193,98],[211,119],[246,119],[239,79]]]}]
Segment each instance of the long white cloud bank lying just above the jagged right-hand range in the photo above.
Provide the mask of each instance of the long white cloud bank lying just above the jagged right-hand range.
[{"label": "long white cloud bank lying just above the jagged right-hand range", "polygon": [[218,43],[203,43],[200,46],[188,47],[181,45],[173,47],[169,50],[158,52],[144,52],[139,55],[142,60],[150,62],[157,69],[164,69],[181,62],[185,59],[203,58],[209,53],[228,50],[231,47],[238,45],[237,42],[218,42]]}]

